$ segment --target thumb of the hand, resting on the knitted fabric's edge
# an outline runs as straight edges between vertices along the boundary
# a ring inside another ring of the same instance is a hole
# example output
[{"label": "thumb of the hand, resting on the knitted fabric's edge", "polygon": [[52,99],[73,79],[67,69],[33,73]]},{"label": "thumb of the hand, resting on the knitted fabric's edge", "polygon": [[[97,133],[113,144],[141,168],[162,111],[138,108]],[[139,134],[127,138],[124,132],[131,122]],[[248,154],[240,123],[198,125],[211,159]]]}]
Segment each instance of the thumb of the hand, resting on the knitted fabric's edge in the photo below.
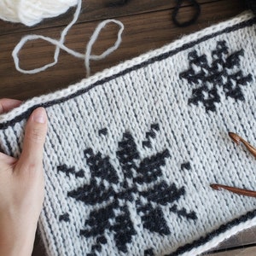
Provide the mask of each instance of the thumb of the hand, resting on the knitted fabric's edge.
[{"label": "thumb of the hand, resting on the knitted fabric's edge", "polygon": [[44,141],[47,132],[47,115],[44,108],[34,110],[27,120],[19,166],[37,168],[43,165]]}]

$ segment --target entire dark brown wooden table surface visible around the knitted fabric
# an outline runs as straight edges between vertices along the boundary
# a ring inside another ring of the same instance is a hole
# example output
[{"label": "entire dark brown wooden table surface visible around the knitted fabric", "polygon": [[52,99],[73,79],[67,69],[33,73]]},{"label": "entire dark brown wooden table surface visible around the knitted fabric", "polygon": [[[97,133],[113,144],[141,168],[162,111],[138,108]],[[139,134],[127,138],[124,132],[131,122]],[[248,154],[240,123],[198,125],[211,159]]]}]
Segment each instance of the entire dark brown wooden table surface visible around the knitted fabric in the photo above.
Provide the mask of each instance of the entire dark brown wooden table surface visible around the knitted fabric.
[{"label": "entire dark brown wooden table surface visible around the knitted fabric", "polygon": [[[195,24],[177,27],[172,22],[174,0],[84,0],[79,20],[67,34],[66,45],[84,53],[90,35],[101,20],[114,18],[125,25],[122,44],[112,55],[102,61],[91,61],[91,73],[112,67],[141,55],[150,49],[159,48],[190,32],[227,20],[246,9],[241,0],[199,0],[201,15]],[[123,3],[116,4],[111,3]],[[51,38],[60,38],[61,31],[73,18],[74,8],[55,19],[44,20],[38,26],[26,27],[0,20],[0,98],[11,97],[26,100],[50,91],[59,90],[79,82],[86,76],[84,61],[61,51],[55,67],[43,73],[22,74],[16,71],[12,50],[23,36],[36,33]],[[195,12],[189,1],[183,1],[178,19],[188,20]],[[118,27],[108,25],[102,31],[93,47],[93,54],[100,54],[111,46],[117,36]],[[26,44],[20,51],[20,67],[36,68],[53,61],[55,47],[42,40]],[[242,232],[219,245],[211,255],[256,255],[256,229]],[[236,247],[236,249],[235,249]],[[231,248],[231,249],[230,249]],[[33,256],[43,256],[44,246],[39,236],[36,239]]]}]

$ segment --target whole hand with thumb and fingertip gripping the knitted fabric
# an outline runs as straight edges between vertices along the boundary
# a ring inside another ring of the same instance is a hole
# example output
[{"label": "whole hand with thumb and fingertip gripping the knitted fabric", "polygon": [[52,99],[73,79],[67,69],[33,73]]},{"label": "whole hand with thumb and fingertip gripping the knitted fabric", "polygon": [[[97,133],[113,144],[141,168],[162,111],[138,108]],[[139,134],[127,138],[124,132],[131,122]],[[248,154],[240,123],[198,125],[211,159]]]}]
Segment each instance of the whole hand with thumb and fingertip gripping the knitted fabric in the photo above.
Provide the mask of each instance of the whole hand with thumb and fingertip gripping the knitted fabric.
[{"label": "whole hand with thumb and fingertip gripping the knitted fabric", "polygon": [[[0,113],[20,105],[0,100]],[[43,151],[47,132],[44,108],[35,109],[26,123],[19,159],[0,153],[0,255],[32,254],[44,201]]]}]

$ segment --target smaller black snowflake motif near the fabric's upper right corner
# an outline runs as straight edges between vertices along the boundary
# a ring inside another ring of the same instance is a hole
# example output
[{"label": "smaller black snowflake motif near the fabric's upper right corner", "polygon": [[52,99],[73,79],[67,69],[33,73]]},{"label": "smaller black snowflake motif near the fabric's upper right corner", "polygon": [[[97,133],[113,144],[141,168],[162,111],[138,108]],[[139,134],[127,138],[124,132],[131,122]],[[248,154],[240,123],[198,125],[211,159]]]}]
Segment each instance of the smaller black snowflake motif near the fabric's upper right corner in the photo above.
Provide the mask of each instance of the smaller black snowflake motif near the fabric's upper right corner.
[{"label": "smaller black snowflake motif near the fabric's upper right corner", "polygon": [[181,79],[187,79],[196,88],[192,90],[189,104],[198,105],[202,102],[207,111],[216,111],[216,103],[220,102],[220,90],[226,97],[236,101],[244,101],[241,86],[252,81],[252,75],[243,75],[240,70],[240,59],[243,49],[229,54],[225,41],[218,41],[216,49],[212,50],[212,64],[209,65],[207,55],[198,55],[194,50],[189,53],[189,69],[180,73]]}]

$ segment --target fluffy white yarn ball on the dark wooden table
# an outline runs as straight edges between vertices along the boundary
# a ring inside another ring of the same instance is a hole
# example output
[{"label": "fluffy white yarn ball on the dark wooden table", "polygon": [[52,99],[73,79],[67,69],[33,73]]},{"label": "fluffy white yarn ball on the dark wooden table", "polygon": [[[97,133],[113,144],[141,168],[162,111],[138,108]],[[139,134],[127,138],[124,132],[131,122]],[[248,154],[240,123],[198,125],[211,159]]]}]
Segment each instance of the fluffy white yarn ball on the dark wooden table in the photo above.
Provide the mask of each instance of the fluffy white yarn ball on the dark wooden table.
[{"label": "fluffy white yarn ball on the dark wooden table", "polygon": [[0,0],[0,19],[33,26],[77,4],[78,0]]}]

